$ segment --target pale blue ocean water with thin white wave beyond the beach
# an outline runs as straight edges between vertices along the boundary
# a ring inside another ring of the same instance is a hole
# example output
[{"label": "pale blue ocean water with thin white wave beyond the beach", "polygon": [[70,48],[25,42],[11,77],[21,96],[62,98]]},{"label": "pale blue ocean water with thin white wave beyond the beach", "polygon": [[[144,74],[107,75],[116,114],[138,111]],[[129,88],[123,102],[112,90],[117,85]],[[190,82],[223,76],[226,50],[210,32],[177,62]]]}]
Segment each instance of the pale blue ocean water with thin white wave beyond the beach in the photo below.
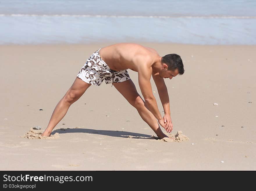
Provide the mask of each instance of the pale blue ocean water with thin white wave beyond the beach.
[{"label": "pale blue ocean water with thin white wave beyond the beach", "polygon": [[256,1],[0,0],[0,44],[256,44]]}]

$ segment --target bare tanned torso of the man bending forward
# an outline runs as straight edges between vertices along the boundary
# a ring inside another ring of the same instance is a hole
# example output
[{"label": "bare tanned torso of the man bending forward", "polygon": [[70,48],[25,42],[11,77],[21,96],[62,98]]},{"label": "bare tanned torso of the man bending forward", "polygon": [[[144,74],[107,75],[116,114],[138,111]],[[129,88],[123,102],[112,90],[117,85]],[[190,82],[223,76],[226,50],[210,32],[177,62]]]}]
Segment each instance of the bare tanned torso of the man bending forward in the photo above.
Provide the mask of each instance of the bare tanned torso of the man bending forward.
[{"label": "bare tanned torso of the man bending forward", "polygon": [[[160,57],[154,49],[134,43],[113,44],[100,49],[99,54],[115,71],[131,69],[138,72],[138,64],[151,66]],[[145,63],[138,62],[138,60],[145,60]]]}]

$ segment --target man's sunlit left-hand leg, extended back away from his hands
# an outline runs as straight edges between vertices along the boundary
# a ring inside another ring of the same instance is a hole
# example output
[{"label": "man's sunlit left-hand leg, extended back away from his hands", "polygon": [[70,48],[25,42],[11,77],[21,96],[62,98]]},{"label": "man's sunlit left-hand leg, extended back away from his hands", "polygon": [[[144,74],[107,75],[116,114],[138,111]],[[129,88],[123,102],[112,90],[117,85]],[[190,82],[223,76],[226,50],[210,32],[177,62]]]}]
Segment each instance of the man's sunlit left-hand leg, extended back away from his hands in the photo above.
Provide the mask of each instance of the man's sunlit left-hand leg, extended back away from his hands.
[{"label": "man's sunlit left-hand leg, extended back away from his hands", "polygon": [[72,103],[77,101],[83,93],[90,87],[91,84],[82,81],[80,78],[76,78],[73,85],[64,95],[64,97],[58,102],[55,107],[50,122],[42,133],[42,136],[49,137],[54,127],[61,121],[61,119],[66,115],[68,108]]}]

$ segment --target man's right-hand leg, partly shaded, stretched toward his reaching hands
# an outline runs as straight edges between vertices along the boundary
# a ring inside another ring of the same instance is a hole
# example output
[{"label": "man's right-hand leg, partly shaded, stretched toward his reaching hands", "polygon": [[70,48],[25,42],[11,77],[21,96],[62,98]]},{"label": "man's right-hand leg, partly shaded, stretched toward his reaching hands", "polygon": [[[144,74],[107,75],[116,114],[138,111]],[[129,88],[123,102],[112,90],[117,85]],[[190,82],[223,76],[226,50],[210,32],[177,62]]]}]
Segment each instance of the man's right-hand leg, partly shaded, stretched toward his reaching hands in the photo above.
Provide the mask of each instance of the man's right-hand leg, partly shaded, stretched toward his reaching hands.
[{"label": "man's right-hand leg, partly shaded, stretched toward his reaching hands", "polygon": [[138,110],[141,118],[152,128],[160,139],[168,137],[161,130],[157,119],[150,110],[147,109],[145,102],[138,94],[131,79],[120,83],[113,83],[113,85],[125,97],[125,99],[127,99],[127,101]]}]

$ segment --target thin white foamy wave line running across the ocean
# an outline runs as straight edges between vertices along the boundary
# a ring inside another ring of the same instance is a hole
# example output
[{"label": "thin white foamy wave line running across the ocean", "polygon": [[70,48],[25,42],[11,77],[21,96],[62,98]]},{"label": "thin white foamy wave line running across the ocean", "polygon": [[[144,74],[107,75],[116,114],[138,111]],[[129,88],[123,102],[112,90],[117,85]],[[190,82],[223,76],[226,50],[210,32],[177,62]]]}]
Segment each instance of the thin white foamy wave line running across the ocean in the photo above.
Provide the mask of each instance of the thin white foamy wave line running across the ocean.
[{"label": "thin white foamy wave line running across the ocean", "polygon": [[201,18],[201,19],[256,19],[256,16],[225,16],[225,15],[209,15],[209,16],[139,16],[139,15],[38,15],[38,14],[0,14],[0,17],[94,17],[94,18]]}]

